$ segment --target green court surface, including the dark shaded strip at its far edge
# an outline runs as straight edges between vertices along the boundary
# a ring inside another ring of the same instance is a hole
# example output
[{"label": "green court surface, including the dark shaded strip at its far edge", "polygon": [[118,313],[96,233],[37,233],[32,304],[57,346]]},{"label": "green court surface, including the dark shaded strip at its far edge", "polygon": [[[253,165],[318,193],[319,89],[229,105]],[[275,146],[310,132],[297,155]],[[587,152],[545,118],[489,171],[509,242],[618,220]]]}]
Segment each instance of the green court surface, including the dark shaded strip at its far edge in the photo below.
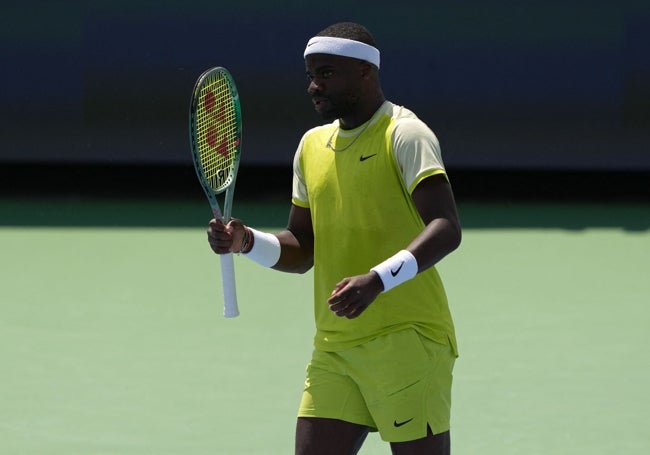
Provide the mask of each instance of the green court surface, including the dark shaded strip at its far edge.
[{"label": "green court surface, including the dark shaded strip at its far edge", "polygon": [[[198,199],[0,200],[0,454],[292,453],[311,274],[236,257],[224,319]],[[650,453],[650,206],[460,211],[453,453]]]}]

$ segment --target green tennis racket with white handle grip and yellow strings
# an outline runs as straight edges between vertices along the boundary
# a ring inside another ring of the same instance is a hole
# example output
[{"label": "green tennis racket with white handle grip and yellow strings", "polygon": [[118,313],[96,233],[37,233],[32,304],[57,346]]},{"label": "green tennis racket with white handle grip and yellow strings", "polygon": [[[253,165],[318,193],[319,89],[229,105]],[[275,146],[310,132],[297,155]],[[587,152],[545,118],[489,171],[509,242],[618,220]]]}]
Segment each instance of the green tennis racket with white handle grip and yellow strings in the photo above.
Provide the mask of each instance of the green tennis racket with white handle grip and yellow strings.
[{"label": "green tennis racket with white handle grip and yellow strings", "polygon": [[[241,156],[241,107],[235,81],[225,68],[204,72],[190,103],[190,147],[199,182],[215,218],[230,219]],[[217,195],[225,192],[223,213]],[[239,315],[232,254],[222,254],[223,315]]]}]

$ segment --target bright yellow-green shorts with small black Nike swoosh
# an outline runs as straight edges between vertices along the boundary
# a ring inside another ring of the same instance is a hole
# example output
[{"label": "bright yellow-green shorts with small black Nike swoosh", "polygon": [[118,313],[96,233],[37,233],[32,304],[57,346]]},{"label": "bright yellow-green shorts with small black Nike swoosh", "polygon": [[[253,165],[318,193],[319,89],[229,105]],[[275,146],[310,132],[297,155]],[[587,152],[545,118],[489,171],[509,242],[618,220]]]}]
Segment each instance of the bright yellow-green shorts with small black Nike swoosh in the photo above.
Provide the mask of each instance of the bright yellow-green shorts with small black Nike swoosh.
[{"label": "bright yellow-green shorts with small black Nike swoosh", "polygon": [[340,352],[315,350],[298,417],[366,425],[388,442],[412,441],[449,430],[450,346],[414,329]]}]

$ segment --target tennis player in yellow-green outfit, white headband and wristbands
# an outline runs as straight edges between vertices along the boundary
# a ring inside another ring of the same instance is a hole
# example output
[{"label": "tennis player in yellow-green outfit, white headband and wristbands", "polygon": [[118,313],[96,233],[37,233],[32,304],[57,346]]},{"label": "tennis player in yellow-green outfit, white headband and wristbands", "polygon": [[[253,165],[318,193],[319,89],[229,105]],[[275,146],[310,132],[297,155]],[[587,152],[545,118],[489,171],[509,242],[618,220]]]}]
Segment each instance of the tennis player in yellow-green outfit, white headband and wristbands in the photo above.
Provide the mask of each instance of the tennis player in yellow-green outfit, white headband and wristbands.
[{"label": "tennis player in yellow-green outfit, white headband and wristbands", "polygon": [[354,23],[304,50],[316,111],[294,158],[287,228],[211,220],[218,253],[314,268],[316,335],[296,454],[355,454],[379,431],[394,454],[449,454],[454,325],[434,265],[461,228],[434,133],[384,98],[380,52]]}]

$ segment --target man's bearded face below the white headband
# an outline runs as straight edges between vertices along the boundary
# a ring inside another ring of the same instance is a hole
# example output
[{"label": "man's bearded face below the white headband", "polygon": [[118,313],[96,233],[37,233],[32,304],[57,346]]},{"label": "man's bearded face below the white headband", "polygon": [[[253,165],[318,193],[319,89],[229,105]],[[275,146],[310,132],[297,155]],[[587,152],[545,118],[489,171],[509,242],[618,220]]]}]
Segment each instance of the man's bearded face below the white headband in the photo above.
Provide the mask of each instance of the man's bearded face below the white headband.
[{"label": "man's bearded face below the white headband", "polygon": [[314,108],[323,119],[332,121],[356,112],[361,95],[362,62],[328,54],[305,58]]}]

